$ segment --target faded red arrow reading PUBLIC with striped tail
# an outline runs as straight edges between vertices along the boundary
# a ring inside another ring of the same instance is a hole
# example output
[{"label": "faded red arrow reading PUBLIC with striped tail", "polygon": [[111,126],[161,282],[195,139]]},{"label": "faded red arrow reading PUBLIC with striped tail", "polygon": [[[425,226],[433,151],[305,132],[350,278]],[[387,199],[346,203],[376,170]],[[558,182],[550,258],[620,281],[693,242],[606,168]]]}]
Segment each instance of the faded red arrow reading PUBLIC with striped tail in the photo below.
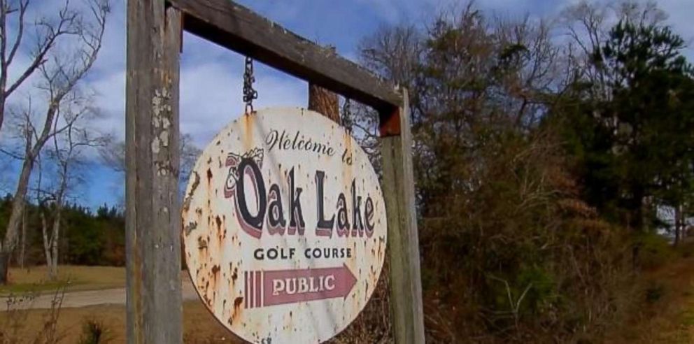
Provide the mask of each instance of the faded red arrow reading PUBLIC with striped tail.
[{"label": "faded red arrow reading PUBLIC with striped tail", "polygon": [[262,296],[262,300],[254,306],[264,307],[336,297],[346,298],[355,284],[357,278],[345,264],[335,268],[263,271],[262,285],[258,286],[255,283],[254,287],[250,288],[248,299],[257,300],[257,296]]}]

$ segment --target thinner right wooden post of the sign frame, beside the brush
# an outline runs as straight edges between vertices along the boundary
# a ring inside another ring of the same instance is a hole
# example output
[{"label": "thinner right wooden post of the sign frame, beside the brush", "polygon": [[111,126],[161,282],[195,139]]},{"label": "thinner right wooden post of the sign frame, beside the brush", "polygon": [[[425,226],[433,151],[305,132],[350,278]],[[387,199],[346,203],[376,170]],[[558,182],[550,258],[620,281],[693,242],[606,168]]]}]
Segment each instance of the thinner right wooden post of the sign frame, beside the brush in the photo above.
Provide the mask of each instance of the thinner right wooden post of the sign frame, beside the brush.
[{"label": "thinner right wooden post of the sign frame, beside the brush", "polygon": [[[419,267],[419,238],[412,171],[412,137],[407,91],[402,106],[390,114],[395,123],[382,130],[383,196],[388,210],[388,254],[390,257],[390,307],[395,343],[424,343],[422,280]],[[388,117],[388,116],[382,116]],[[382,128],[383,129],[383,128]],[[389,134],[389,133],[397,133]]]}]

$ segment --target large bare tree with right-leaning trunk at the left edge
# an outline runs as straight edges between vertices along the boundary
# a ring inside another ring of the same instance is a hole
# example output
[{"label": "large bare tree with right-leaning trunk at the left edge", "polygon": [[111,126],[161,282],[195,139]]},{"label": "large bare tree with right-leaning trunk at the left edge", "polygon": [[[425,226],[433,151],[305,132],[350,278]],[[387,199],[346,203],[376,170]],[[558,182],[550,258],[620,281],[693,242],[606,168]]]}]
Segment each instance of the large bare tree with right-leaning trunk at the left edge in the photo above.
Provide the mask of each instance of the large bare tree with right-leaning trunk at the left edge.
[{"label": "large bare tree with right-leaning trunk at the left edge", "polygon": [[[27,20],[24,13],[27,12],[29,0],[1,1],[2,5],[2,44],[6,44],[4,37],[7,34],[6,18],[8,15],[19,13],[20,21],[17,27],[16,46],[20,45],[24,27]],[[87,72],[90,71],[101,50],[101,41],[106,27],[106,15],[110,8],[108,0],[85,0],[85,8],[73,8],[69,0],[65,0],[57,11],[57,19],[52,20],[48,17],[41,17],[36,20],[36,40],[34,42],[33,62],[27,67],[25,73],[18,78],[13,85],[20,85],[31,74],[37,73],[40,77],[36,91],[45,96],[43,109],[39,113],[31,104],[24,106],[22,110],[15,110],[15,117],[18,118],[15,125],[16,136],[22,138],[22,151],[19,153],[8,152],[6,154],[20,159],[22,166],[20,175],[17,178],[17,188],[14,192],[10,220],[8,221],[5,236],[0,243],[0,283],[7,281],[8,258],[17,244],[17,234],[19,231],[22,213],[24,210],[25,198],[29,187],[31,171],[34,169],[36,158],[46,143],[52,138],[69,131],[71,125],[80,118],[83,110],[90,107],[90,96],[80,89],[80,80],[83,80]],[[64,36],[62,43],[64,47],[58,48],[57,38]],[[3,48],[0,47],[0,48]],[[4,49],[1,49],[4,50]],[[13,48],[13,51],[16,51]],[[2,52],[3,78],[6,77],[6,68],[10,57],[5,59]],[[2,99],[0,108],[4,116],[8,95],[16,87],[5,85],[0,80],[2,87]],[[41,108],[41,107],[39,107]]]}]

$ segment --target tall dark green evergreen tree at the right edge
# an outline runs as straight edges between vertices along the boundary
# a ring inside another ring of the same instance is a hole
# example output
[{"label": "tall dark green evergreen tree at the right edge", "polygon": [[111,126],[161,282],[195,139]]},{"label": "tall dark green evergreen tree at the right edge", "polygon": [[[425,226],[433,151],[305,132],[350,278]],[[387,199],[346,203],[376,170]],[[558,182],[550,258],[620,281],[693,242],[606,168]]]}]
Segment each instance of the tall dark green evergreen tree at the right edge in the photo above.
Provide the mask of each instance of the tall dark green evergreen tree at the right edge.
[{"label": "tall dark green evergreen tree at the right edge", "polygon": [[639,232],[655,227],[658,206],[692,194],[694,80],[683,49],[669,27],[619,22],[593,52],[609,98],[578,78],[559,111],[586,199]]}]

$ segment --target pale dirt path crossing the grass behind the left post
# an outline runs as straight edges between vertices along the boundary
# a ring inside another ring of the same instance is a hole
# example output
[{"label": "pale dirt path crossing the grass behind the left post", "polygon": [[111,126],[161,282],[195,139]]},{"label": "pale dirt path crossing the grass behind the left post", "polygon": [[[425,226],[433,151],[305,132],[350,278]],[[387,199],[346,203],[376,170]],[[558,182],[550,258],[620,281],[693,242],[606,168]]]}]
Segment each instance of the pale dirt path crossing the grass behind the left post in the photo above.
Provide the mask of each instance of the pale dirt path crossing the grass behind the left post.
[{"label": "pale dirt path crossing the grass behind the left post", "polygon": [[[183,301],[194,300],[198,298],[197,292],[190,282],[190,278],[183,276],[181,278],[181,294]],[[45,309],[51,308],[55,292],[47,291],[41,293],[34,299],[17,300],[13,308],[15,309]],[[7,304],[7,297],[0,297],[0,304]],[[96,305],[125,305],[125,287],[102,290],[88,290],[84,292],[66,292],[62,302],[62,308],[78,308]]]}]

